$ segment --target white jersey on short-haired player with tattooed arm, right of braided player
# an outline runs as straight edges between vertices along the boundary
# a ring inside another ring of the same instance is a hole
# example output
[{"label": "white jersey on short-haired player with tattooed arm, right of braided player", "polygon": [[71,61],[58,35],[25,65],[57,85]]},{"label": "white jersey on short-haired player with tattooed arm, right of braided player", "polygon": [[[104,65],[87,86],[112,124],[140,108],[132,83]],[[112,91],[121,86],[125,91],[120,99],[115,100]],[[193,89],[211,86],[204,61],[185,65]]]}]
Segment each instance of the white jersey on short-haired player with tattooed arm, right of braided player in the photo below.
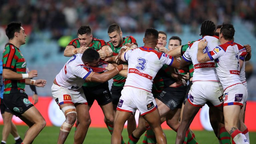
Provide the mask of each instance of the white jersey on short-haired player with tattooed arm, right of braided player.
[{"label": "white jersey on short-haired player with tattooed arm, right of braided player", "polygon": [[240,81],[239,50],[233,41],[219,45],[208,52],[211,60],[215,60],[216,70],[224,91]]}]

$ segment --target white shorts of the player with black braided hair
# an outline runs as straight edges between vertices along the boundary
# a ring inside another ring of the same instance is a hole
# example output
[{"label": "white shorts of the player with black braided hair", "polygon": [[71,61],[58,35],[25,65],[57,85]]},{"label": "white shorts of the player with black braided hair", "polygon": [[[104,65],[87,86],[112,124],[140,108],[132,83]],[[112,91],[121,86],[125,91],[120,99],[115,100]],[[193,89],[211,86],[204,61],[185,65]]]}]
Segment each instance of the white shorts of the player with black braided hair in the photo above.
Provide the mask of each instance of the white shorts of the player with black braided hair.
[{"label": "white shorts of the player with black braided hair", "polygon": [[223,104],[223,88],[219,82],[193,82],[187,97],[193,106],[202,107],[207,101],[218,107]]}]

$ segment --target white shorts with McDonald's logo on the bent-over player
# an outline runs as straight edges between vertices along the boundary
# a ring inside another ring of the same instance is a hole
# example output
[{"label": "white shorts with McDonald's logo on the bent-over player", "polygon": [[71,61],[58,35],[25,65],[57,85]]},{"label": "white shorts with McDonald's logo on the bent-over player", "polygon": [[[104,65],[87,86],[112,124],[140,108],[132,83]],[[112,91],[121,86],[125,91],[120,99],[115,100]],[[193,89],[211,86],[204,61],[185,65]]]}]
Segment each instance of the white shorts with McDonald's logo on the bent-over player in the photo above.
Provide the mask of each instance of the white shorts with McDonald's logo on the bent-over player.
[{"label": "white shorts with McDonald's logo on the bent-over player", "polygon": [[52,85],[52,96],[60,106],[65,103],[83,103],[88,104],[83,89],[72,91],[56,84]]}]

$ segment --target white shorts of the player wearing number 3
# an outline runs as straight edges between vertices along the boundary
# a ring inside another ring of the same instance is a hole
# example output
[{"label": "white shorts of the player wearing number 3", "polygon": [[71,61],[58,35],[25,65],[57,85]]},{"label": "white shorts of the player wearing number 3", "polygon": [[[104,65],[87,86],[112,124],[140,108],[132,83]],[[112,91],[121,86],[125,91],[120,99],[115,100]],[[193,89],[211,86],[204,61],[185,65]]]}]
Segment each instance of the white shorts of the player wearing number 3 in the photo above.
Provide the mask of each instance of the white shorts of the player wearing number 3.
[{"label": "white shorts of the player wearing number 3", "polygon": [[139,90],[131,87],[124,87],[121,91],[121,97],[117,105],[117,110],[135,113],[138,109],[141,115],[156,110],[156,101],[151,92]]}]

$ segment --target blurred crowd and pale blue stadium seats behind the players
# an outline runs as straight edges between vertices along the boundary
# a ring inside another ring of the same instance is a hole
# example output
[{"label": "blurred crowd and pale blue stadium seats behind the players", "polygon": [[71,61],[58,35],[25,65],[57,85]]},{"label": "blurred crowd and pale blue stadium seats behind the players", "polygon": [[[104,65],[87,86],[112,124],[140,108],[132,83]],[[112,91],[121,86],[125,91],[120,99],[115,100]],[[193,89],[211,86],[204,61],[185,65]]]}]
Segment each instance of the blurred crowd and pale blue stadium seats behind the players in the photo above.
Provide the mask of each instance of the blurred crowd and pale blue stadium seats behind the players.
[{"label": "blurred crowd and pale blue stadium seats behind the players", "polygon": [[5,26],[21,22],[28,34],[21,51],[28,67],[48,80],[39,95],[50,96],[52,80],[69,59],[63,50],[81,25],[90,25],[94,37],[109,41],[107,28],[117,23],[123,36],[134,36],[142,46],[149,27],[167,32],[168,38],[181,37],[182,44],[197,40],[204,20],[234,24],[235,41],[252,46],[247,82],[249,99],[256,100],[256,0],[0,0],[0,49],[8,42]]}]

